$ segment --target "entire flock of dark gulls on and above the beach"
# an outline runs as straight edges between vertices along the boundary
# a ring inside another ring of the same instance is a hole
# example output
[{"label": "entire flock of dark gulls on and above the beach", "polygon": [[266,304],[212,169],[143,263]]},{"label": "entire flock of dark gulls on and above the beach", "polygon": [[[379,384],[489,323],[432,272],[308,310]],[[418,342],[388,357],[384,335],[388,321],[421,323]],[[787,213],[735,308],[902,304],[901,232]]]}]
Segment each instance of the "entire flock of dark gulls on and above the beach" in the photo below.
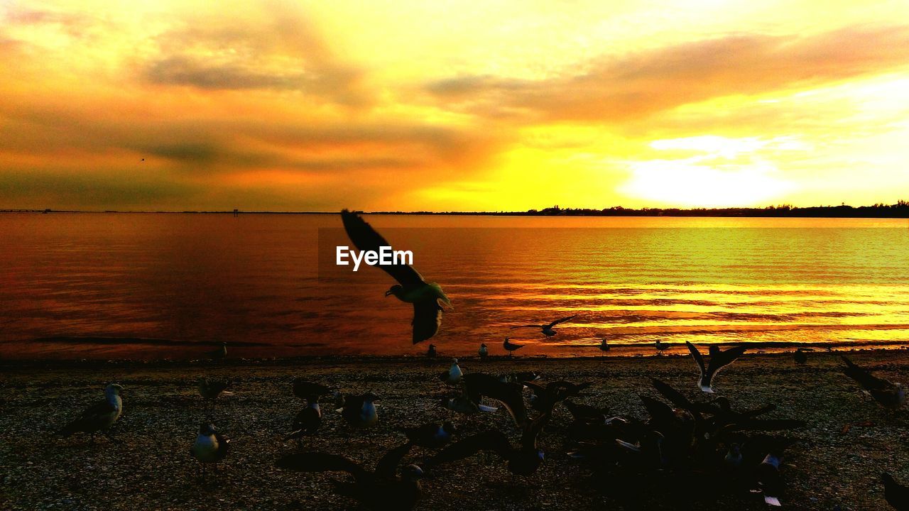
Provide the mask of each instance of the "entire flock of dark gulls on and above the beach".
[{"label": "entire flock of dark gulls on and above the beach", "polygon": [[[379,246],[389,245],[358,215],[346,211],[341,215],[351,241],[361,251],[378,251]],[[441,286],[426,283],[410,266],[380,267],[398,282],[385,296],[394,295],[414,306],[413,342],[416,344],[435,336],[444,310],[440,303],[451,305]],[[544,336],[554,336],[554,326],[572,318],[574,316],[548,324],[513,328],[539,328]],[[508,473],[531,476],[544,463],[541,436],[562,434],[566,445],[571,446],[567,456],[588,466],[604,486],[624,490],[648,484],[656,484],[661,489],[698,487],[701,493],[706,491],[706,486],[743,495],[761,494],[767,505],[781,506],[784,453],[794,440],[780,433],[802,427],[804,422],[793,418],[765,418],[765,414],[775,409],[774,405],[743,409],[734,406],[728,398],[715,395],[716,375],[744,354],[744,346],[725,350],[710,346],[709,358],[704,360],[696,346],[685,344],[698,367],[696,386],[704,398],[690,399],[664,381],[652,378],[655,394],[660,398],[639,396],[647,413],[643,418],[612,415],[606,404],[579,403],[577,398],[583,397],[593,382],[557,380],[544,383],[534,372],[509,375],[464,372],[454,359],[448,370],[439,375],[445,385],[454,389],[440,405],[465,416],[494,413],[504,408],[520,433],[519,442],[513,443],[506,432],[498,429],[463,435],[466,428],[445,420],[400,428],[405,442],[388,451],[372,469],[348,457],[319,451],[282,456],[275,461],[275,466],[295,472],[345,472],[353,479],[336,483],[338,494],[350,496],[372,509],[409,510],[420,500],[421,479],[426,472],[444,472],[446,465],[483,452],[500,458],[502,469]],[[522,346],[507,337],[503,343],[508,356]],[[662,352],[668,346],[657,342],[655,347]],[[600,349],[608,351],[605,339]],[[436,356],[435,346],[429,346],[427,355]],[[481,359],[487,357],[488,347],[480,345],[478,355]],[[208,356],[224,358],[226,345]],[[796,351],[794,359],[797,364],[804,364],[806,350]],[[845,357],[843,360],[844,375],[862,386],[875,402],[891,410],[904,406],[906,396],[900,384],[874,376]],[[214,406],[218,396],[229,394],[229,386],[229,381],[205,377],[198,380],[199,394],[209,406]],[[375,427],[380,423],[376,396],[371,393],[345,396],[329,386],[302,377],[295,378],[292,390],[304,406],[291,421],[284,440],[293,440],[299,447],[305,438],[318,435],[323,420],[320,402],[325,404],[323,400],[328,396],[332,396],[335,411],[353,429]],[[93,443],[98,433],[109,436],[111,427],[123,413],[122,391],[123,387],[116,384],[106,386],[105,399],[86,408],[81,416],[63,427],[60,434],[86,433],[91,435]],[[525,400],[526,394],[529,396]],[[559,429],[551,424],[551,419],[555,414],[563,413],[563,408],[571,416],[571,422]],[[403,466],[405,457],[415,446],[432,454],[419,465]],[[229,451],[230,440],[206,420],[199,425],[189,455],[199,462],[205,478],[205,466],[216,466]],[[901,486],[888,474],[882,479],[886,501],[894,509],[909,511],[909,488]],[[707,480],[724,484],[704,485]]]}]

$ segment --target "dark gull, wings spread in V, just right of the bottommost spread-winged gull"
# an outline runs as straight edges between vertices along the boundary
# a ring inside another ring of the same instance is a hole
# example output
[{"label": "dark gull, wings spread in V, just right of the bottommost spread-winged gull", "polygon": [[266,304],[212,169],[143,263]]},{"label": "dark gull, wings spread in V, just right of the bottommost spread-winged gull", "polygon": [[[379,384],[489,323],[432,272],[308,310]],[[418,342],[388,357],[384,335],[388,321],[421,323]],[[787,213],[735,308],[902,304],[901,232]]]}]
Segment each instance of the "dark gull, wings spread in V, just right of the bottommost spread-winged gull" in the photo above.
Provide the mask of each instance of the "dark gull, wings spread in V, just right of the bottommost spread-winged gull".
[{"label": "dark gull, wings spread in V, just right of the bottommost spread-winged gull", "polygon": [[552,410],[538,416],[533,422],[524,426],[520,446],[512,446],[511,441],[501,431],[489,429],[445,447],[439,454],[430,458],[428,466],[458,461],[480,451],[493,451],[508,462],[508,471],[515,476],[530,476],[543,463],[543,449],[537,445],[537,437],[549,422]]}]

